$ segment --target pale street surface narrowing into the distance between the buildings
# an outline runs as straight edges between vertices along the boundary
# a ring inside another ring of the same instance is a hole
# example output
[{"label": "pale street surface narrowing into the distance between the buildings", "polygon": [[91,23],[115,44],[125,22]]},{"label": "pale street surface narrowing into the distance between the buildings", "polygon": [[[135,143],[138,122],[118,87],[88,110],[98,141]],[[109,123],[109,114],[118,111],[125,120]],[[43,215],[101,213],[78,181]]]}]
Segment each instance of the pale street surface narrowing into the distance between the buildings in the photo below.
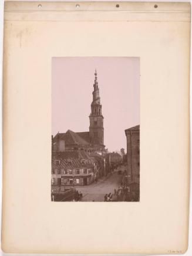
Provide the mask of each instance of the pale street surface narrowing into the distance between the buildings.
[{"label": "pale street surface narrowing into the distance between the buildings", "polygon": [[83,194],[82,201],[104,201],[105,194],[113,194],[114,188],[117,190],[120,186],[122,174],[117,174],[117,171],[122,170],[123,173],[124,169],[125,167],[120,166],[112,174],[108,174],[107,177],[99,178],[97,183],[76,187],[76,190]]}]

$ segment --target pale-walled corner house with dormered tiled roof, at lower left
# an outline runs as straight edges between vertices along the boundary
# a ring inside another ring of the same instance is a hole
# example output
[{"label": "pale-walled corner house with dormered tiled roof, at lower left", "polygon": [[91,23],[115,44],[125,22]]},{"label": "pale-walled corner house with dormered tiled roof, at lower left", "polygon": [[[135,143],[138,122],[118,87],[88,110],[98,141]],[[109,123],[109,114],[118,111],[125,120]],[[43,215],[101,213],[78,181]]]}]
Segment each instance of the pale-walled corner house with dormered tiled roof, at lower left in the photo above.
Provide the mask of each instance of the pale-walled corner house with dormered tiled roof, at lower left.
[{"label": "pale-walled corner house with dormered tiled roof, at lower left", "polygon": [[95,163],[84,151],[52,153],[52,185],[85,186],[95,180]]}]

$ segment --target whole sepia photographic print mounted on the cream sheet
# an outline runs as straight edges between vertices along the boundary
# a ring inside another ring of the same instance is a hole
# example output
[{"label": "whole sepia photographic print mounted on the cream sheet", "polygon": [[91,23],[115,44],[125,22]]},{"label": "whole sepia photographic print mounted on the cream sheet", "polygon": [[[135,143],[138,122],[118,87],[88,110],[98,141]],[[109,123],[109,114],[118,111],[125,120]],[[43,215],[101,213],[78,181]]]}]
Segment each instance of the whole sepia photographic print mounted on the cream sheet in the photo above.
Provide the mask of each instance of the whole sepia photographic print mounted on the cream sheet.
[{"label": "whole sepia photographic print mounted on the cream sheet", "polygon": [[140,200],[140,59],[52,58],[52,201]]}]

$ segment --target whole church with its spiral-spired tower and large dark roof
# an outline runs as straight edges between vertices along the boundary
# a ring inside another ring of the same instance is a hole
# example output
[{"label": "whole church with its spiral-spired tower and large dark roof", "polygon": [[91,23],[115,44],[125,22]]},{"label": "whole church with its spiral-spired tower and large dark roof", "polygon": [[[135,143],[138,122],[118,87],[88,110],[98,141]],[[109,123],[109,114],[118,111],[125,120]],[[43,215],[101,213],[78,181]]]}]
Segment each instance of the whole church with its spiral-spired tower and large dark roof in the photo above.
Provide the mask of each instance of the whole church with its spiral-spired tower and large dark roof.
[{"label": "whole church with its spiral-spired tower and large dark roof", "polygon": [[93,100],[91,103],[91,113],[89,115],[89,132],[57,133],[52,137],[53,151],[84,150],[89,153],[105,151],[104,127],[102,105],[100,104],[99,86],[97,82],[97,72],[95,70],[95,82],[93,84]]}]

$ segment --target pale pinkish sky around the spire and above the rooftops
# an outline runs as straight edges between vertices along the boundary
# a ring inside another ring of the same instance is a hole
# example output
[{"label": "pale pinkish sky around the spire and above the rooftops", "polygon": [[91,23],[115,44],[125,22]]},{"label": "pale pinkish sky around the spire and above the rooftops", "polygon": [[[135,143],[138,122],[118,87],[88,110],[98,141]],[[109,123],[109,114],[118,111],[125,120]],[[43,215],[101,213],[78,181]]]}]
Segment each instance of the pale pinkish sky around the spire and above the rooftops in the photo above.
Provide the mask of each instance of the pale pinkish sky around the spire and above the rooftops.
[{"label": "pale pinkish sky around the spire and above the rooftops", "polygon": [[52,134],[89,131],[95,69],[104,144],[109,151],[127,151],[124,130],[140,124],[139,58],[52,58]]}]

